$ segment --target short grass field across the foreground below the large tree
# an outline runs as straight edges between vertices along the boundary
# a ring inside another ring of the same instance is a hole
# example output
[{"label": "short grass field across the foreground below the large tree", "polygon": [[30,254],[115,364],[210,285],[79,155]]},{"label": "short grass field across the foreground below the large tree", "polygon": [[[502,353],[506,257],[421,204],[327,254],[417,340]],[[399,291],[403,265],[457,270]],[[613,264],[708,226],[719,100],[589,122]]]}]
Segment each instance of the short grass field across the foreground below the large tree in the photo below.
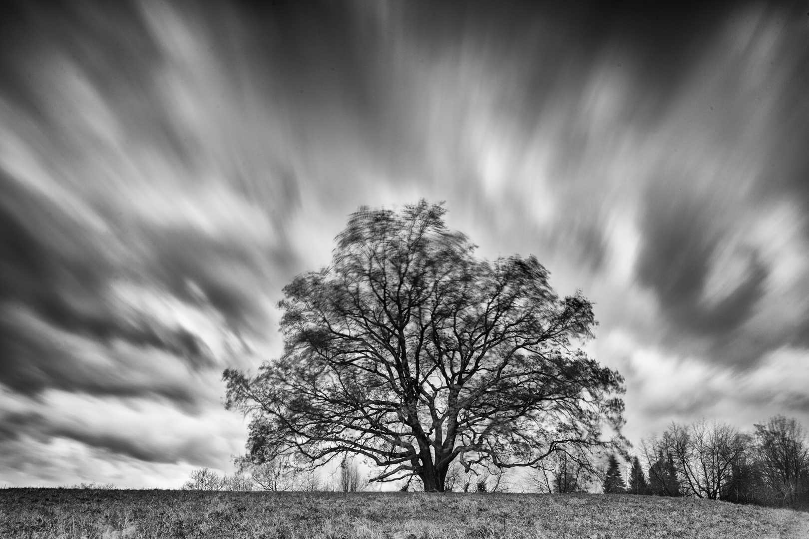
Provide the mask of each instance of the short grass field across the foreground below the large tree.
[{"label": "short grass field across the foreground below the large tree", "polygon": [[809,537],[809,514],[631,495],[0,490],[0,537]]}]

